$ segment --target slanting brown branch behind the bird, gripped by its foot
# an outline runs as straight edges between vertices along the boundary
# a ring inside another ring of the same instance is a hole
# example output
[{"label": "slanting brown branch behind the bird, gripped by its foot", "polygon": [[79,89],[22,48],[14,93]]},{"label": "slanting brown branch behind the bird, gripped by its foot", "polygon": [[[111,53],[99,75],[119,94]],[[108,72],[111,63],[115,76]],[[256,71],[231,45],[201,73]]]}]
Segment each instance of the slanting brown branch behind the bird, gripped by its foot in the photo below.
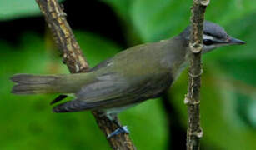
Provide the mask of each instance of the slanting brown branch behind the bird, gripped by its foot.
[{"label": "slanting brown branch behind the bird, gripped by its foot", "polygon": [[[68,66],[69,72],[87,72],[89,69],[88,62],[86,62],[83,57],[83,52],[66,20],[66,14],[59,6],[57,0],[36,1],[48,23],[48,27],[51,32],[53,32],[54,40],[63,55],[63,63]],[[107,117],[100,117],[99,112],[93,112],[93,116],[98,123],[98,127],[106,136],[117,128],[117,126],[109,121]],[[108,138],[108,143],[110,143],[113,149],[135,149],[128,134],[124,133],[118,134],[118,136],[113,138]]]}]

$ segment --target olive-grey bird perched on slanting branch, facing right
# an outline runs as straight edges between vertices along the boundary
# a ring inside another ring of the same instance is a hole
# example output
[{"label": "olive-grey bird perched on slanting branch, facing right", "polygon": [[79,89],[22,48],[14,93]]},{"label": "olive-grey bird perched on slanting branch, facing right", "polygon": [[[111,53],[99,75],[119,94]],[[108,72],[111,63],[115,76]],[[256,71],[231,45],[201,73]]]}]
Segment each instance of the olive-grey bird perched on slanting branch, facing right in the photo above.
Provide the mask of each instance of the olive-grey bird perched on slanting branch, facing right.
[{"label": "olive-grey bird perched on slanting branch, facing right", "polygon": [[[148,99],[160,97],[187,66],[192,52],[189,25],[178,36],[160,42],[148,42],[130,47],[98,63],[86,73],[74,74],[15,74],[13,94],[59,93],[51,104],[63,100],[68,94],[74,99],[53,107],[53,112],[79,112],[97,110],[108,117],[118,133],[129,133],[114,117],[119,112]],[[217,47],[242,45],[245,42],[231,37],[216,23],[203,22],[203,53]]]}]

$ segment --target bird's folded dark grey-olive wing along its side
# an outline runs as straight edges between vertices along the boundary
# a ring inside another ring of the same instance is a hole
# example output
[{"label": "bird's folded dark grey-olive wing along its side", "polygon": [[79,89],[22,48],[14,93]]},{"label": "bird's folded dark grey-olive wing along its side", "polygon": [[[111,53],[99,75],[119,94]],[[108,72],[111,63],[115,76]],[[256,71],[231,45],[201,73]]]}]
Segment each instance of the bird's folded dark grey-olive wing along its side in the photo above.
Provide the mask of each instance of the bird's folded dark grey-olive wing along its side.
[{"label": "bird's folded dark grey-olive wing along its side", "polygon": [[131,85],[116,74],[98,77],[97,82],[88,84],[76,94],[77,99],[53,108],[54,112],[78,112],[110,107],[123,107],[157,97],[169,86],[169,77],[145,78]]}]

